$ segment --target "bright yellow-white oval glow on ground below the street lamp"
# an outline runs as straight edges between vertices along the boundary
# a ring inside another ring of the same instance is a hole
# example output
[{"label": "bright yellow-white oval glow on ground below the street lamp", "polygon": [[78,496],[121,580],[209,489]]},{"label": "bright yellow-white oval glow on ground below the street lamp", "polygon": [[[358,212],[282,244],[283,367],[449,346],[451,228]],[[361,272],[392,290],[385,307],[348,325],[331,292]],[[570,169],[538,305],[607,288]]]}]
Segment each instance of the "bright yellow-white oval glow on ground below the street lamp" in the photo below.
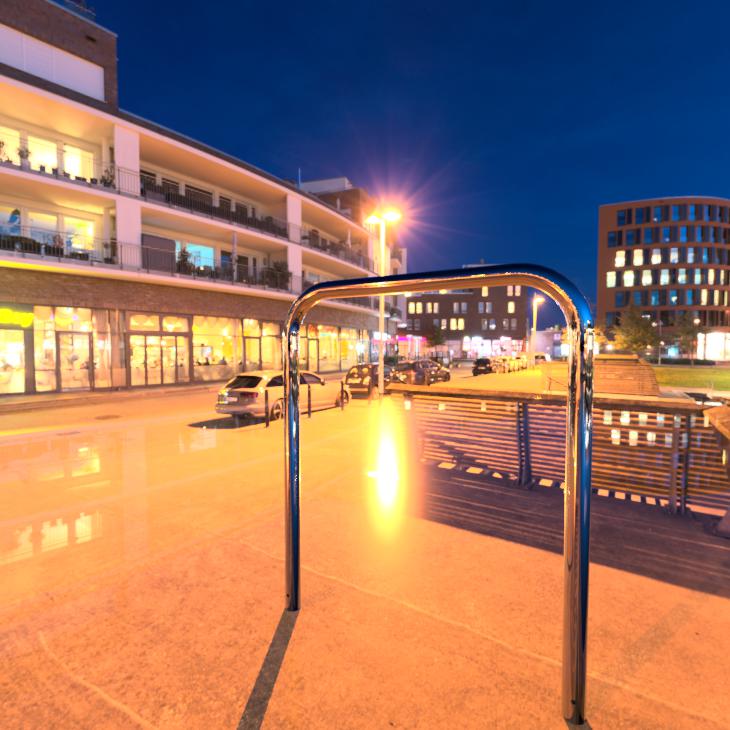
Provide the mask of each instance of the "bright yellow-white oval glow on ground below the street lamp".
[{"label": "bright yellow-white oval glow on ground below the street lamp", "polygon": [[407,440],[402,412],[386,398],[370,407],[367,471],[370,516],[381,534],[393,535],[405,510]]}]

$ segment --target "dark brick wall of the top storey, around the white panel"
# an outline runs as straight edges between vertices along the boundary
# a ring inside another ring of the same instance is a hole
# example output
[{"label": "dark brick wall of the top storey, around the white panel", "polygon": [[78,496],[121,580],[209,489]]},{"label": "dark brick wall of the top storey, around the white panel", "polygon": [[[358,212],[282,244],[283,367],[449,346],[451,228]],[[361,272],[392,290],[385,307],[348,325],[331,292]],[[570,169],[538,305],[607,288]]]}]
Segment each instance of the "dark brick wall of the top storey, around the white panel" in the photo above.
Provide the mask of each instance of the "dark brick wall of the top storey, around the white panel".
[{"label": "dark brick wall of the top storey, around the white panel", "polygon": [[[102,66],[105,100],[117,107],[117,38],[114,33],[47,0],[2,0],[0,23]],[[4,64],[2,72],[24,81],[32,79],[34,85],[64,96],[87,100],[63,86]]]}]

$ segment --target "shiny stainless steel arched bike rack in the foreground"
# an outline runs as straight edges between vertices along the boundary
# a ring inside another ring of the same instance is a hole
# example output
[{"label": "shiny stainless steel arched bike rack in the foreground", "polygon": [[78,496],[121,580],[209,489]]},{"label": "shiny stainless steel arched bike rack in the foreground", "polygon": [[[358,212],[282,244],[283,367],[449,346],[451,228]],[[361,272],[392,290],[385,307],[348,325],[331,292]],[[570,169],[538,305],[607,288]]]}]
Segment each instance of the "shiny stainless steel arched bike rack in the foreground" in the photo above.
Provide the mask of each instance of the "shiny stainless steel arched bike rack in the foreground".
[{"label": "shiny stainless steel arched bike rack in the foreground", "polygon": [[372,279],[328,281],[294,301],[283,333],[286,604],[300,607],[299,553],[299,330],[307,313],[325,299],[380,296],[439,289],[519,284],[538,289],[560,307],[568,325],[568,408],[566,419],[563,521],[563,716],[585,721],[586,623],[588,620],[588,540],[590,534],[591,438],[593,431],[593,319],[583,295],[565,277],[531,264],[474,266],[468,269],[402,274]]}]

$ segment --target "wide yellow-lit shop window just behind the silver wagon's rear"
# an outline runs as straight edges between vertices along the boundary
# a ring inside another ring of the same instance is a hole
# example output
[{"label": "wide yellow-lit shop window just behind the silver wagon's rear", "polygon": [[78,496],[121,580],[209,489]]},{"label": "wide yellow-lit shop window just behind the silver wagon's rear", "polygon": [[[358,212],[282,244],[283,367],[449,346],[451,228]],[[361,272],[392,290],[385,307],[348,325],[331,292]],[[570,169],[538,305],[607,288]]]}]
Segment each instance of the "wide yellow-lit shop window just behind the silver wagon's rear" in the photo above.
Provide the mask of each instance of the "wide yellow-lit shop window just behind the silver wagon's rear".
[{"label": "wide yellow-lit shop window just behind the silver wagon's rear", "polygon": [[193,317],[193,374],[196,380],[224,380],[239,369],[240,325],[226,317]]}]

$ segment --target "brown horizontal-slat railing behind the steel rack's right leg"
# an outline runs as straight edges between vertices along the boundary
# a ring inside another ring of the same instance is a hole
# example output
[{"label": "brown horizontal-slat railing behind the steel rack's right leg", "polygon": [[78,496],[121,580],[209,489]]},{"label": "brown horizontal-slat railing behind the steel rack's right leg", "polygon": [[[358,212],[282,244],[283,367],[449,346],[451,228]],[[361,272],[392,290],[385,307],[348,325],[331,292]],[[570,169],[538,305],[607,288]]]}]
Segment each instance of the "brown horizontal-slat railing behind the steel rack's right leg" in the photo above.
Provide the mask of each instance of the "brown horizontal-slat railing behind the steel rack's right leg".
[{"label": "brown horizontal-slat railing behind the steel rack's right leg", "polygon": [[[433,385],[392,390],[415,419],[426,462],[499,474],[525,487],[563,481],[564,394],[479,393]],[[719,514],[730,508],[722,449],[698,405],[600,395],[593,403],[594,492],[677,513],[691,508]]]}]

